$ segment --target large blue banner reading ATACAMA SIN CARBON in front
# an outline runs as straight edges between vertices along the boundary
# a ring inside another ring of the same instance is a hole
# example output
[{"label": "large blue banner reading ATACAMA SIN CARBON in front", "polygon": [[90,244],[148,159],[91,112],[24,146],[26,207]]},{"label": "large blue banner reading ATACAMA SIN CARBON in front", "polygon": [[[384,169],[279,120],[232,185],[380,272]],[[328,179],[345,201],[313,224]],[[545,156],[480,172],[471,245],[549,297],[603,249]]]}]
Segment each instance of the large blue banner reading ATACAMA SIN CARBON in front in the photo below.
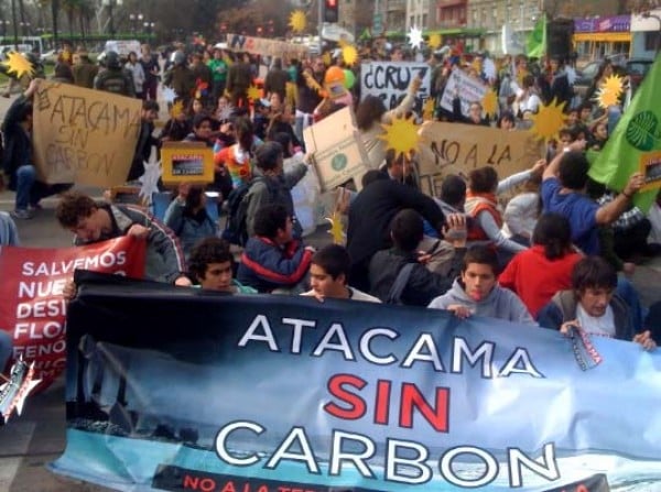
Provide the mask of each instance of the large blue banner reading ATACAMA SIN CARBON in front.
[{"label": "large blue banner reading ATACAMA SIN CARBON in front", "polygon": [[661,353],[636,343],[595,337],[583,371],[572,339],[503,320],[78,280],[54,471],[170,491],[661,483]]}]

